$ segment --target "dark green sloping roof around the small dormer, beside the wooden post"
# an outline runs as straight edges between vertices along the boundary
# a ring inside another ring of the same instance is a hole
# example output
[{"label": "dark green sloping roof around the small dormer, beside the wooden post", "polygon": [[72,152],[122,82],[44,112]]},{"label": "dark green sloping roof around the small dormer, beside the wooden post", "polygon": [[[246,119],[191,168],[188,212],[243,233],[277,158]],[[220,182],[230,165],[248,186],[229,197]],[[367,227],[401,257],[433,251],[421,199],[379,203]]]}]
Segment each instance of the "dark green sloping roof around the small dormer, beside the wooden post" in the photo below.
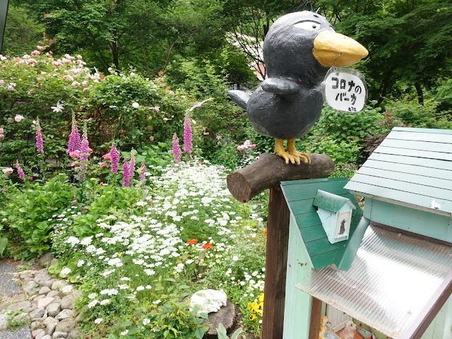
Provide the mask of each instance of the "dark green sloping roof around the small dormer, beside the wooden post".
[{"label": "dark green sloping roof around the small dormer, beside the wooden post", "polygon": [[[355,196],[344,189],[345,184],[347,184],[347,178],[281,182],[281,188],[283,189],[287,205],[294,216],[295,222],[297,222],[305,249],[311,259],[311,266],[314,269],[335,263],[339,268],[347,270],[352,263],[353,256],[355,256],[364,231],[369,224],[369,220],[362,218],[362,210]],[[319,189],[331,194],[343,196],[354,203],[356,209],[353,210],[350,237],[348,240],[335,244],[331,244],[328,241],[319,215],[313,205],[314,198],[316,198]]]}]

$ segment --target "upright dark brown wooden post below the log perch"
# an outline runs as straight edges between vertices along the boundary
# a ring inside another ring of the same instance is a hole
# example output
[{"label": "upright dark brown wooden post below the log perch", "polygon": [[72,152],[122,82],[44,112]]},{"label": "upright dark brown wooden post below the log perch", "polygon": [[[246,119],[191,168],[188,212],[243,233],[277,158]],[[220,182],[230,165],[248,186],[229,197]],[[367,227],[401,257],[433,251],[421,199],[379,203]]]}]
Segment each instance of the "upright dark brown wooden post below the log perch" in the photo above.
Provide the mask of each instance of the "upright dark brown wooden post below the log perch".
[{"label": "upright dark brown wooden post below the log perch", "polygon": [[262,339],[282,339],[290,211],[281,186],[270,189]]}]

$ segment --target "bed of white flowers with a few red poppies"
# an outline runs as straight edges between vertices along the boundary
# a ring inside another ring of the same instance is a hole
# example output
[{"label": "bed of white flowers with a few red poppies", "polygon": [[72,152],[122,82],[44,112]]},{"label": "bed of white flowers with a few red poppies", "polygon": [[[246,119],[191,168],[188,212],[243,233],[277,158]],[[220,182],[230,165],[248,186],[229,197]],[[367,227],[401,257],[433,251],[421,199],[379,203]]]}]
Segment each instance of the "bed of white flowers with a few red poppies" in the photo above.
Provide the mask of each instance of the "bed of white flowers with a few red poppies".
[{"label": "bed of white flowers with a few red poppies", "polygon": [[[152,186],[128,188],[141,191],[138,213],[117,210],[89,230],[75,227],[88,214],[76,203],[55,217],[59,261],[50,271],[81,285],[85,331],[100,338],[164,338],[165,331],[179,333],[168,338],[202,338],[205,326],[181,301],[221,287],[242,310],[244,326],[258,333],[261,308],[248,304],[263,291],[263,218],[232,199],[219,167],[194,160],[161,170]],[[174,312],[183,314],[183,326]]]}]

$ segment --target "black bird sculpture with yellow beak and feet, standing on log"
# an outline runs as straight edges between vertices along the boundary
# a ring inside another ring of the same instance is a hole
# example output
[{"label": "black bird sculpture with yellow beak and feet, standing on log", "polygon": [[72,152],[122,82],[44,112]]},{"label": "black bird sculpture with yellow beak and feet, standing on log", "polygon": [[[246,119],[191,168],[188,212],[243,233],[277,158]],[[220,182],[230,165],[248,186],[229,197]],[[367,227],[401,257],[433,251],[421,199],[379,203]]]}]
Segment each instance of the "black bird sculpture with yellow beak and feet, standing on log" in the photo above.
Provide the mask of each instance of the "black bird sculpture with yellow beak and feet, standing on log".
[{"label": "black bird sculpture with yellow beak and feet, standing on log", "polygon": [[273,23],[263,42],[268,78],[251,97],[241,90],[228,95],[246,110],[257,133],[276,138],[275,153],[286,164],[311,162],[309,155],[297,151],[295,139],[320,118],[323,78],[331,66],[349,66],[367,54],[361,44],[336,33],[323,16],[290,13]]}]

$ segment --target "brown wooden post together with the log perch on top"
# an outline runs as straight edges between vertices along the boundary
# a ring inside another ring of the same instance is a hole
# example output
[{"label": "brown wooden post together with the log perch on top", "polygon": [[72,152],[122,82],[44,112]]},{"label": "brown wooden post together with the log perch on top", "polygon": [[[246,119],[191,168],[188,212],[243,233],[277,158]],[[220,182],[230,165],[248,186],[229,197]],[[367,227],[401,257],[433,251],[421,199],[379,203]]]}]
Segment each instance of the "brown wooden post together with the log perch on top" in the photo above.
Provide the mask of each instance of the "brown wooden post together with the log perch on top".
[{"label": "brown wooden post together with the log perch on top", "polygon": [[227,188],[242,203],[270,189],[262,339],[283,339],[290,210],[280,182],[329,177],[335,167],[328,155],[309,156],[310,164],[286,165],[278,155],[264,153],[256,162],[227,176]]}]

